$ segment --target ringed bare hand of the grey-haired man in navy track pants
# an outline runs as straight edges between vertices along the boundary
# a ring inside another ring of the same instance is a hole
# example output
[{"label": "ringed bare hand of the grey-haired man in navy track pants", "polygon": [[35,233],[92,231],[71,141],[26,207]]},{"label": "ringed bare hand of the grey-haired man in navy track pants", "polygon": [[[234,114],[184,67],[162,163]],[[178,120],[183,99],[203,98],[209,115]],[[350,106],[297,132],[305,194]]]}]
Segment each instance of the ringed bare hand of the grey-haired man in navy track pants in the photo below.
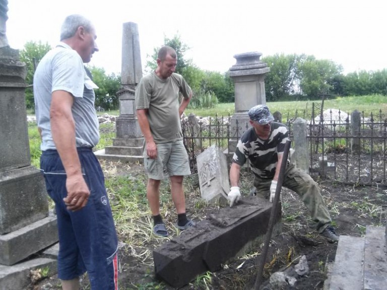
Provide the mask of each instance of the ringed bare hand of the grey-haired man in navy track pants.
[{"label": "ringed bare hand of the grey-haired man in navy track pants", "polygon": [[63,198],[68,210],[77,211],[85,207],[90,190],[82,174],[68,177],[66,180],[67,196]]}]

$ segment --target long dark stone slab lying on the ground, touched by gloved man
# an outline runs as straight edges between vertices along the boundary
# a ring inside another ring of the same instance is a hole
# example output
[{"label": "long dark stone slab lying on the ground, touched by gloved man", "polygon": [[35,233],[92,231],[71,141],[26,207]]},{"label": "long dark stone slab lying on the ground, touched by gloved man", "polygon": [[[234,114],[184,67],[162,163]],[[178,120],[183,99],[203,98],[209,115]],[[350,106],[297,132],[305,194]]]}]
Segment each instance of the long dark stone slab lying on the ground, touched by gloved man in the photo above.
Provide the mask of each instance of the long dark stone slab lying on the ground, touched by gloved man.
[{"label": "long dark stone slab lying on the ground, touched by gloved man", "polygon": [[[236,206],[209,212],[196,227],[153,251],[156,277],[181,287],[197,275],[217,271],[221,264],[255,249],[264,240],[272,205],[266,199],[248,196]],[[278,210],[273,236],[280,231]]]}]

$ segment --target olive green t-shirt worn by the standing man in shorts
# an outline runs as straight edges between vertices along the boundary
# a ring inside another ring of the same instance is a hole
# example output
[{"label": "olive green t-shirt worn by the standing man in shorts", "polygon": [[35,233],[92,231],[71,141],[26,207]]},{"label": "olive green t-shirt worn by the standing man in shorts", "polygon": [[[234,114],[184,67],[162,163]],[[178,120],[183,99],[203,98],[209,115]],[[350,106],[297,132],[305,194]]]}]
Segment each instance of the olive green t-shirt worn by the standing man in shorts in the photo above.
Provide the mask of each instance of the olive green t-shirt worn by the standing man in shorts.
[{"label": "olive green t-shirt worn by the standing man in shorts", "polygon": [[143,77],[135,93],[136,109],[148,109],[147,117],[155,143],[182,140],[179,92],[189,98],[191,88],[184,78],[173,73],[160,79],[155,71]]}]

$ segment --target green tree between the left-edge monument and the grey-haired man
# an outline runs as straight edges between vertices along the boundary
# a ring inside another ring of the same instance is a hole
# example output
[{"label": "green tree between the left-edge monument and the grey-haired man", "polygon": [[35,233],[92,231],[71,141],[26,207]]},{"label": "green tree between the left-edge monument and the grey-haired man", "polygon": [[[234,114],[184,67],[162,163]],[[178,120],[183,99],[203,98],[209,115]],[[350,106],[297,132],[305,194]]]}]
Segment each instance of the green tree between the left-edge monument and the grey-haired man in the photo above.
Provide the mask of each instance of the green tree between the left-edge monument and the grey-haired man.
[{"label": "green tree between the left-edge monument and the grey-haired man", "polygon": [[26,64],[26,107],[27,109],[35,109],[34,94],[33,94],[33,81],[36,66],[42,57],[51,49],[48,43],[42,44],[41,41],[34,42],[29,41],[24,45],[24,48],[20,51],[20,60]]}]

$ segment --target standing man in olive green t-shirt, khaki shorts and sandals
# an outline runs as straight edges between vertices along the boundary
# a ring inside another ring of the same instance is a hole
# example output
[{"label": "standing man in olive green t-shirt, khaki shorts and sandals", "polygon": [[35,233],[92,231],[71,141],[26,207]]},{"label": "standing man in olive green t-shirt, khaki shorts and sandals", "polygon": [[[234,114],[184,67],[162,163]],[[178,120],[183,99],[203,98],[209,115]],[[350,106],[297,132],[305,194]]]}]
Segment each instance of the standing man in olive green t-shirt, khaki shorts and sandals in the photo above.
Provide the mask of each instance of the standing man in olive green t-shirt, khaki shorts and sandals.
[{"label": "standing man in olive green t-shirt, khaki shorts and sandals", "polygon": [[[145,138],[144,167],[148,173],[147,198],[153,215],[153,232],[163,237],[168,236],[159,208],[164,172],[171,182],[176,228],[185,230],[195,225],[185,214],[183,176],[189,175],[190,169],[180,124],[192,91],[184,78],[174,73],[176,64],[176,51],[169,46],[161,47],[156,70],[141,79],[135,95],[137,117]],[[183,96],[181,104],[179,93]]]}]

